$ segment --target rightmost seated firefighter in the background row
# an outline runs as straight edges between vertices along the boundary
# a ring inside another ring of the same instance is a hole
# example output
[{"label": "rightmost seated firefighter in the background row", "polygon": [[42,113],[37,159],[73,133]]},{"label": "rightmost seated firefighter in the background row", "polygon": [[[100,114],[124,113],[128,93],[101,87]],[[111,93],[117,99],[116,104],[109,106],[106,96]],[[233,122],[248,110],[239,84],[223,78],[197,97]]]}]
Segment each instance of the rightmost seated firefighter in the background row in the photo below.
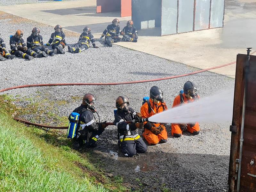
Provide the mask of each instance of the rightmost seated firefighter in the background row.
[{"label": "rightmost seated firefighter in the background row", "polygon": [[120,34],[123,35],[123,41],[138,42],[138,31],[134,27],[132,20],[127,21]]}]

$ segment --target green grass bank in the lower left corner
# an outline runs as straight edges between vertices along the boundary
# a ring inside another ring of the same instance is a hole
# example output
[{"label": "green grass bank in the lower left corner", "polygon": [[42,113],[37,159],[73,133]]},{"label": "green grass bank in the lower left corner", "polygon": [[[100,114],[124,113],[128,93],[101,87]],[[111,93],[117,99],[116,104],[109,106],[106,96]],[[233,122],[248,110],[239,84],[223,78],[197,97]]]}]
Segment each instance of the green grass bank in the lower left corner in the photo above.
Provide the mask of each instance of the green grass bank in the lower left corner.
[{"label": "green grass bank in the lower left corner", "polygon": [[[99,157],[92,157],[90,151],[80,154],[73,150],[66,130],[47,131],[12,119],[13,114],[34,113],[37,104],[31,104],[30,109],[17,108],[11,96],[0,95],[0,106],[1,192],[128,190],[122,177],[105,175],[94,161]],[[66,117],[58,119],[65,124]]]}]

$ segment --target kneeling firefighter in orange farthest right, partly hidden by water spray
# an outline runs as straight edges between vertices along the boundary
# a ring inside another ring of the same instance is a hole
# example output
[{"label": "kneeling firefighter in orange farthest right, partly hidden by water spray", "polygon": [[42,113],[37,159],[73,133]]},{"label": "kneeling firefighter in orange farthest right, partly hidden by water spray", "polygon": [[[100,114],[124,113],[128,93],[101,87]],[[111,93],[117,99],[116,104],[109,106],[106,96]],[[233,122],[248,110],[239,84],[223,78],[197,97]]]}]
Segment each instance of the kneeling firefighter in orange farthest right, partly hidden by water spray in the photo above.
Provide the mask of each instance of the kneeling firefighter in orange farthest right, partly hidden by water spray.
[{"label": "kneeling firefighter in orange farthest right, partly hidden by water spray", "polygon": [[[199,95],[196,93],[196,86],[191,81],[187,81],[183,87],[183,93],[176,96],[172,107],[177,107],[182,105],[183,103],[193,102],[199,99]],[[172,136],[173,137],[180,137],[183,132],[188,131],[193,135],[197,135],[200,132],[200,127],[198,122],[194,124],[172,124]]]}]

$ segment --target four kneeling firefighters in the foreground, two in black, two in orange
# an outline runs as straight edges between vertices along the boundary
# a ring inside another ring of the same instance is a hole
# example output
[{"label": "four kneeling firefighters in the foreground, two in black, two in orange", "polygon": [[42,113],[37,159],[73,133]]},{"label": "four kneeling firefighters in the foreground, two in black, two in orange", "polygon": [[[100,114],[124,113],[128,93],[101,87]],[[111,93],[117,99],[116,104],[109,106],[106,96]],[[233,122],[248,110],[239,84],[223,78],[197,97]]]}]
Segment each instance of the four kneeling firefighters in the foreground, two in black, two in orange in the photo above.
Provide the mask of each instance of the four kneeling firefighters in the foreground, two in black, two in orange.
[{"label": "four kneeling firefighters in the foreground, two in black, two in orange", "polygon": [[[129,107],[129,100],[123,96],[116,99],[116,114],[114,124],[118,131],[118,146],[125,156],[133,156],[136,153],[144,153],[147,151],[147,145],[138,134],[137,129],[143,129],[143,137],[149,145],[165,143],[167,141],[167,131],[165,124],[152,122],[130,123],[134,119],[148,118],[157,113],[167,110],[164,102],[163,91],[157,86],[150,89],[150,99],[145,102],[140,112],[135,112]],[[183,93],[175,97],[172,107],[186,104],[199,99],[196,93],[196,86],[191,81],[187,81],[183,86]],[[106,122],[96,122],[93,115],[95,113],[94,106],[95,96],[87,93],[84,95],[81,106],[73,112],[79,113],[79,124],[76,130],[73,147],[78,149],[82,146],[95,147],[100,134],[105,130]],[[172,136],[180,137],[183,132],[188,131],[194,135],[199,134],[199,124],[172,124]]]}]

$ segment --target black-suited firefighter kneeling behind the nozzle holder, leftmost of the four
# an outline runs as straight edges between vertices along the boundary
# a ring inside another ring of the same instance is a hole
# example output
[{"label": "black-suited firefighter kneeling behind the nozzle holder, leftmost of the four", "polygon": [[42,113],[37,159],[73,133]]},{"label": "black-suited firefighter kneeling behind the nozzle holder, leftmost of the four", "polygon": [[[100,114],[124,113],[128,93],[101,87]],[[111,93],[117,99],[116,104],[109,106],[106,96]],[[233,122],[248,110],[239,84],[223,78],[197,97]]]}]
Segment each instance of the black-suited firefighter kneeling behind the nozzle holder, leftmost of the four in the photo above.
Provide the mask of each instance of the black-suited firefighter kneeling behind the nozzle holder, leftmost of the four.
[{"label": "black-suited firefighter kneeling behind the nozzle holder, leftmost of the four", "polygon": [[104,131],[106,124],[97,123],[93,113],[96,113],[94,101],[95,96],[87,93],[84,95],[82,104],[76,108],[73,112],[79,113],[79,127],[76,131],[76,138],[73,143],[74,149],[78,149],[82,146],[96,147],[100,134]]}]

